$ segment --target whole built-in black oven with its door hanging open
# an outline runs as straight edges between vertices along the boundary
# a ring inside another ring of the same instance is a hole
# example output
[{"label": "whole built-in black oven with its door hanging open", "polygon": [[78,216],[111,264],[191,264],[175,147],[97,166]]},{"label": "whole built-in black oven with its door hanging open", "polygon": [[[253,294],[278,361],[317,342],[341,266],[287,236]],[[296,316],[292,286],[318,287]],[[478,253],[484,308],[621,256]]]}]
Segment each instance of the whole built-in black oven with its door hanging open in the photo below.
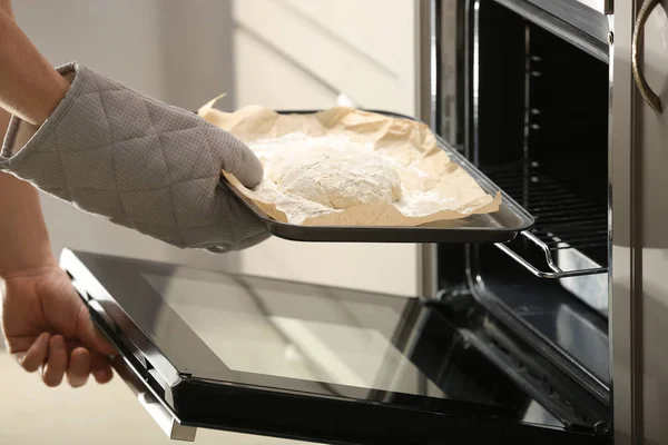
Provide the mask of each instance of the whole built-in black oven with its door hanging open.
[{"label": "whole built-in black oven with its door hanging open", "polygon": [[610,6],[419,4],[422,119],[536,225],[423,245],[416,298],[65,250],[169,437],[611,443]]}]

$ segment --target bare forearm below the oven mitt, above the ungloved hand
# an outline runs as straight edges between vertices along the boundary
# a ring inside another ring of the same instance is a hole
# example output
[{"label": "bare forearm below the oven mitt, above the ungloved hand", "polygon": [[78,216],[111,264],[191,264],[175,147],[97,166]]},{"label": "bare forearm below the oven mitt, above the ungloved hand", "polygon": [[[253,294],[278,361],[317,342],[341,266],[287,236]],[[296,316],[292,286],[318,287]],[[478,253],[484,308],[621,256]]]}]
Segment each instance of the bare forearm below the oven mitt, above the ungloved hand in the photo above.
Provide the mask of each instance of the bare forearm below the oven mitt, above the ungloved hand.
[{"label": "bare forearm below the oven mitt, above the ungloved hand", "polygon": [[[0,0],[0,10],[11,14],[10,1]],[[9,118],[0,108],[0,141]],[[0,277],[52,259],[37,189],[4,172],[0,172]]]}]

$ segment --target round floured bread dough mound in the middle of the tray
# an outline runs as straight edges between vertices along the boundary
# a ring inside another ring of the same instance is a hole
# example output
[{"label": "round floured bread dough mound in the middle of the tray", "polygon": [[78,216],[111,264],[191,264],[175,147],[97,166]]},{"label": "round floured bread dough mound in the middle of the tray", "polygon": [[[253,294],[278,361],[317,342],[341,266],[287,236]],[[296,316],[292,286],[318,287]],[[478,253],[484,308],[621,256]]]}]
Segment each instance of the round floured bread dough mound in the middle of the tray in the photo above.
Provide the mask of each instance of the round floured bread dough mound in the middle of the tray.
[{"label": "round floured bread dough mound in the middle of the tray", "polygon": [[369,150],[311,148],[298,156],[282,151],[271,164],[267,175],[278,190],[334,209],[401,198],[399,174]]}]

